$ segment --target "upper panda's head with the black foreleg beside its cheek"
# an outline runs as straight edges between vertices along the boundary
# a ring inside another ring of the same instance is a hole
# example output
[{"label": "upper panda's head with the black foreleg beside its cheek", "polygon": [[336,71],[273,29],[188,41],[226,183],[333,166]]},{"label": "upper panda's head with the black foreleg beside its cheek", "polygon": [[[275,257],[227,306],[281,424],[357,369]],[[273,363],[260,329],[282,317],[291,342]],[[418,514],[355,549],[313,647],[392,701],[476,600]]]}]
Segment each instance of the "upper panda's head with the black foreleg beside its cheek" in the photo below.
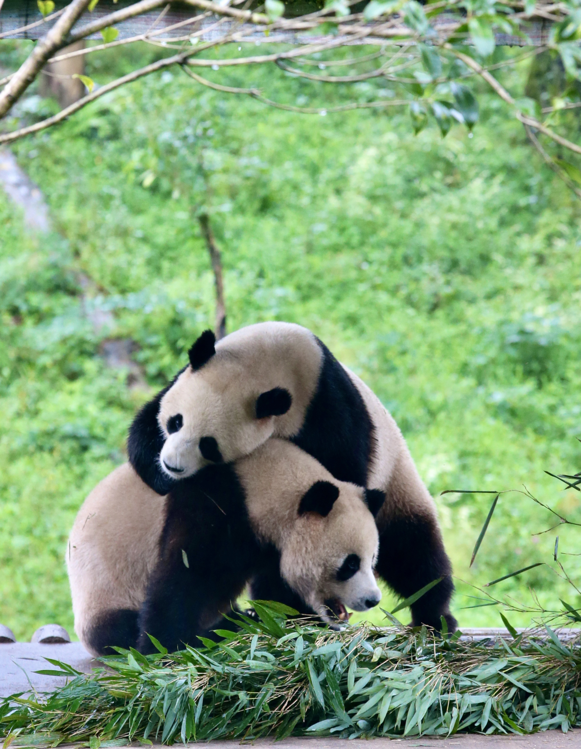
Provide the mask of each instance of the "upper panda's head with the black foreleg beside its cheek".
[{"label": "upper panda's head with the black foreleg beside its cheek", "polygon": [[208,464],[248,455],[291,409],[285,387],[257,389],[231,351],[216,352],[206,330],[189,349],[189,366],[146,404],[130,430],[128,452],[139,476],[159,494]]}]

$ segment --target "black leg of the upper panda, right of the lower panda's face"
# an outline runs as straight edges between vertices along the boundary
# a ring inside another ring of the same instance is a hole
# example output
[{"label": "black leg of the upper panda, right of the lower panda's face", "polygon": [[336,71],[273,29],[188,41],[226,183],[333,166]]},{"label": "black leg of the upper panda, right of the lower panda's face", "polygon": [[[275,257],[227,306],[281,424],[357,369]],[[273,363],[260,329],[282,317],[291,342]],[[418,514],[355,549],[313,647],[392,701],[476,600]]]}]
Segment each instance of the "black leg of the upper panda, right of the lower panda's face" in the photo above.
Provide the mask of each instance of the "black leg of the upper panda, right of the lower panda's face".
[{"label": "black leg of the upper panda, right of the lower panda's face", "polygon": [[455,631],[457,621],[450,613],[451,563],[434,518],[420,514],[390,518],[380,530],[376,571],[402,598],[442,577],[410,607],[412,625],[425,624],[439,631],[443,616],[448,631]]}]

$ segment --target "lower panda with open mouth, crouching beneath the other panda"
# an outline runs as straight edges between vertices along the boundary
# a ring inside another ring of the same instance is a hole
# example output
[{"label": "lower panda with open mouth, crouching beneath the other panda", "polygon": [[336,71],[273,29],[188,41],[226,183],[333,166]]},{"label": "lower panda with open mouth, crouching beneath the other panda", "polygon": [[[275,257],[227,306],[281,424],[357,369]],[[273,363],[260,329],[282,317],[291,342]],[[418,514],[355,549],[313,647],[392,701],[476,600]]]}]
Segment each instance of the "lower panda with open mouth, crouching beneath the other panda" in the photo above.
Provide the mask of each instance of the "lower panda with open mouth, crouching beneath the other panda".
[{"label": "lower panda with open mouth, crouching beneath the other panda", "polygon": [[[255,574],[279,574],[302,613],[327,622],[366,610],[383,494],[338,482],[311,455],[271,439],[234,464],[207,466],[165,502],[130,465],[79,511],[67,566],[75,631],[101,655],[112,644],[168,649],[231,628],[223,614]],[[200,533],[200,529],[204,533]]]}]

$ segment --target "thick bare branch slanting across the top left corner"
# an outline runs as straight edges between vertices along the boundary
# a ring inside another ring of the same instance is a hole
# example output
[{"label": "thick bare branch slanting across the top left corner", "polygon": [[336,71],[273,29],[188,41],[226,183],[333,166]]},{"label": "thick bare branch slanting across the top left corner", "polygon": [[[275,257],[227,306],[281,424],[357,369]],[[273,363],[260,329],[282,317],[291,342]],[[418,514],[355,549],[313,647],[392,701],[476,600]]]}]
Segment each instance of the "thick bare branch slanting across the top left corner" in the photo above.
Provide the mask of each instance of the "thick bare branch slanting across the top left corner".
[{"label": "thick bare branch slanting across the top left corner", "polygon": [[67,34],[90,2],[91,0],[73,0],[46,36],[37,43],[31,55],[22,63],[16,75],[0,93],[0,118],[4,117],[13,103],[31,85],[49,57],[65,45]]}]

